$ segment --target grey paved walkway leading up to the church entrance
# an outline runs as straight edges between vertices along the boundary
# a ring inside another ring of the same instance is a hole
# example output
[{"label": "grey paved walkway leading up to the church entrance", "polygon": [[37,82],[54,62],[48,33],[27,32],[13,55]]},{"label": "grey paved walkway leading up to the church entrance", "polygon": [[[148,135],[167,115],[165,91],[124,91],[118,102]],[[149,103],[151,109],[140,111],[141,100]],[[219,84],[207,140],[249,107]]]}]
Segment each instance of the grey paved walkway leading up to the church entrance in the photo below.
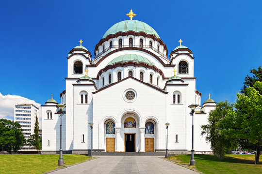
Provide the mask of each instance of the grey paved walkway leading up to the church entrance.
[{"label": "grey paved walkway leading up to the church entrance", "polygon": [[97,157],[51,174],[197,174],[156,156]]}]

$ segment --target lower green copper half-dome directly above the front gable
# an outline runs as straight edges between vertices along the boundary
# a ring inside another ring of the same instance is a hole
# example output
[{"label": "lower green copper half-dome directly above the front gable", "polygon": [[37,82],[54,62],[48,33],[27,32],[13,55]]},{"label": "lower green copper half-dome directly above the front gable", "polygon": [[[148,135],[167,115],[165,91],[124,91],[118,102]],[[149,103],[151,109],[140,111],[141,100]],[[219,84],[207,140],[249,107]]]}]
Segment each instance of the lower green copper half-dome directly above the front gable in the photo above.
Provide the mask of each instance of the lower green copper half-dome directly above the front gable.
[{"label": "lower green copper half-dome directly above the front gable", "polygon": [[[122,55],[122,56],[118,56],[116,58],[114,58],[113,60],[111,60],[107,65],[113,65],[115,63],[118,62],[135,62],[135,63],[146,63],[147,65],[154,65],[150,60],[148,60],[147,58],[140,56],[140,55],[136,55],[136,54],[126,54],[126,55]],[[155,66],[155,65],[154,65]]]}]

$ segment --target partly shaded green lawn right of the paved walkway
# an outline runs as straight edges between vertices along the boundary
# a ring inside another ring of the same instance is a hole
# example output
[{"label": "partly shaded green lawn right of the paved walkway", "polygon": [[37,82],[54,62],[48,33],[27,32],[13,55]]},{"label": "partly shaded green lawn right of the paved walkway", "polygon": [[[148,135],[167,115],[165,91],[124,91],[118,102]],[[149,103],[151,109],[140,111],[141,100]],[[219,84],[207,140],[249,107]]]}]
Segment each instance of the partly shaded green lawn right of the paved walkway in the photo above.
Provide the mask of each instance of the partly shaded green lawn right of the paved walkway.
[{"label": "partly shaded green lawn right of the paved walkway", "polygon": [[[189,165],[191,155],[176,155],[167,159]],[[226,155],[224,160],[213,155],[195,155],[195,160],[197,170],[204,174],[262,174],[262,164],[254,166],[255,155]]]}]

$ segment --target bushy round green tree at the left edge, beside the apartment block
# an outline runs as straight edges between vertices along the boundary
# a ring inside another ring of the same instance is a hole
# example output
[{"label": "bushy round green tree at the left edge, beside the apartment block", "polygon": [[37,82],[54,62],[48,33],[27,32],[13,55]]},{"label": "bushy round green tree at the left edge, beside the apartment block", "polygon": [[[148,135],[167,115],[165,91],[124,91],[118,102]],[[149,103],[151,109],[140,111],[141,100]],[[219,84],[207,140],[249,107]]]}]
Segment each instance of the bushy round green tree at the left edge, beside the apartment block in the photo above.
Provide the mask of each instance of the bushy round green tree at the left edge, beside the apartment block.
[{"label": "bushy round green tree at the left edge, beside the apartment block", "polygon": [[8,152],[21,149],[25,144],[25,137],[21,125],[17,122],[0,119],[0,146]]}]

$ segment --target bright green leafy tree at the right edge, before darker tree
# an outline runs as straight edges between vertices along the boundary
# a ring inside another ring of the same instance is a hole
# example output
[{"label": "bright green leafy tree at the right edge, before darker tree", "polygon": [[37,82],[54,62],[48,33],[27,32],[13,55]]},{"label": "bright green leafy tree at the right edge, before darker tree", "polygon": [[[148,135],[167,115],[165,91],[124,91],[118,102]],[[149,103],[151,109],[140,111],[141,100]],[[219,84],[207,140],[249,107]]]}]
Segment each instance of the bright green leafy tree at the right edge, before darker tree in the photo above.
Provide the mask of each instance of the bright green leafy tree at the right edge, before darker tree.
[{"label": "bright green leafy tree at the right edge, before darker tree", "polygon": [[236,137],[247,140],[256,148],[255,164],[259,163],[262,147],[262,82],[255,82],[253,87],[237,94],[235,103],[235,130],[229,131]]}]

